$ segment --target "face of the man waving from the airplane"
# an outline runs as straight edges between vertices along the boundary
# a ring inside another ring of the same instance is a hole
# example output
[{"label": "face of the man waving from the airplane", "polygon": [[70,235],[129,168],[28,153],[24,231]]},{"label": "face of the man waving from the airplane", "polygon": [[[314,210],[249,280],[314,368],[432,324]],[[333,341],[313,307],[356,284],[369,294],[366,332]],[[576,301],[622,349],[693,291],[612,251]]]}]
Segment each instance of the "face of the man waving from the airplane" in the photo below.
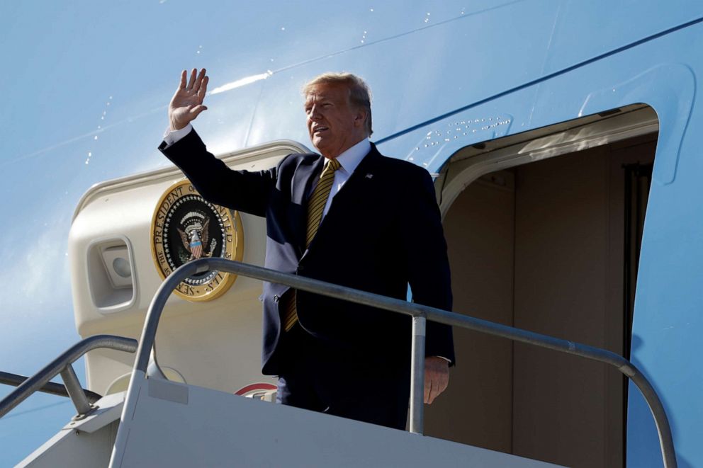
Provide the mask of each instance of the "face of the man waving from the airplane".
[{"label": "face of the man waving from the airplane", "polygon": [[349,102],[345,84],[315,84],[305,98],[308,133],[317,151],[336,158],[366,137],[364,110]]}]

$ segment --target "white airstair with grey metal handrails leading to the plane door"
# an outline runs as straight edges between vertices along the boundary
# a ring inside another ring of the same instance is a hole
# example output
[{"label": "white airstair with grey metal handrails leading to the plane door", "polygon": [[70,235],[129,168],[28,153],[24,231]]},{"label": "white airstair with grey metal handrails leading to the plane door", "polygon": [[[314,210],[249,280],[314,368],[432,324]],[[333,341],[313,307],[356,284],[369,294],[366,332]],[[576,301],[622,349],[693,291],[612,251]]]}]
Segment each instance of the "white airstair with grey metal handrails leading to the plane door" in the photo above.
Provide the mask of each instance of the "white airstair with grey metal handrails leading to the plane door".
[{"label": "white airstair with grey metal handrails leading to the plane door", "polygon": [[[220,270],[277,282],[412,317],[410,431],[270,404],[235,394],[171,382],[157,360],[155,336],[166,301],[191,275]],[[137,342],[91,336],[69,348],[29,379],[0,374],[18,384],[0,401],[0,417],[35,391],[69,396],[77,409],[59,433],[21,467],[547,467],[537,460],[422,435],[424,336],[427,319],[597,360],[616,367],[642,392],[656,422],[664,466],[676,467],[663,406],[641,372],[607,350],[532,333],[470,316],[311,280],[222,258],[181,266],[163,282]],[[72,363],[95,348],[137,356],[126,392],[100,397],[80,387]],[[50,379],[61,375],[64,386]]]}]

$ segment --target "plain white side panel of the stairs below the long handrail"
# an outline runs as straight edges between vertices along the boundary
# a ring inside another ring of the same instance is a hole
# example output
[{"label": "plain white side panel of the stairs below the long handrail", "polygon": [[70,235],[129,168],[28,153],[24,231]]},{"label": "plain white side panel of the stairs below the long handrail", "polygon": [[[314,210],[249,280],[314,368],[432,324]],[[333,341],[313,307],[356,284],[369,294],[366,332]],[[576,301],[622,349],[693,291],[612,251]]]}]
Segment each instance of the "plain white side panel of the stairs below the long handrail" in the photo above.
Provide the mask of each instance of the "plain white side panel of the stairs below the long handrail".
[{"label": "plain white side panel of the stairs below the long handrail", "polygon": [[135,372],[111,467],[551,467]]}]

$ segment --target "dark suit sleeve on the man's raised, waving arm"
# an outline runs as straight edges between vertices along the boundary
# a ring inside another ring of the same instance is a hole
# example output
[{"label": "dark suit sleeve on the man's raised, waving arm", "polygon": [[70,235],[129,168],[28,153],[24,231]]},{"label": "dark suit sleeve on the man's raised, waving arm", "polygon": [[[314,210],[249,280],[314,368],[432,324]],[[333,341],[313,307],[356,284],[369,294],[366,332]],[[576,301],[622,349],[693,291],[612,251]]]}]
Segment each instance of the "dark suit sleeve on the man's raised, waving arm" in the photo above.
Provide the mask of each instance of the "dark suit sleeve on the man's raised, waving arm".
[{"label": "dark suit sleeve on the man's raised, waving arm", "polygon": [[159,150],[183,171],[189,181],[209,202],[265,216],[271,193],[276,187],[276,169],[235,171],[208,152],[195,130]]}]

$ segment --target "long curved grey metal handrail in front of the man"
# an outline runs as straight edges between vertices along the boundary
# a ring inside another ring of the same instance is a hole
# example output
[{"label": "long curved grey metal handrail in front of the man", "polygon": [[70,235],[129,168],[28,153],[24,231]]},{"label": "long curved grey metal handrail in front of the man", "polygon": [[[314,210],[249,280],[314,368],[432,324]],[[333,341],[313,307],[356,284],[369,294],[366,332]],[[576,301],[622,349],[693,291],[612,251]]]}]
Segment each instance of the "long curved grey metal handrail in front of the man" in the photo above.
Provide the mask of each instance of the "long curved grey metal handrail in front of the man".
[{"label": "long curved grey metal handrail in front of the man", "polygon": [[[575,343],[574,341],[516,329],[512,326],[496,324],[491,321],[455,314],[454,312],[447,312],[442,309],[435,309],[434,307],[427,307],[400,299],[376,295],[371,292],[354,290],[349,287],[333,285],[328,282],[313,280],[290,273],[281,273],[259,266],[248,265],[247,263],[225,260],[224,258],[200,258],[196,261],[191,261],[174,270],[174,272],[164,280],[157,290],[154,299],[152,299],[147,312],[144,329],[142,330],[142,338],[140,339],[139,349],[137,350],[135,370],[144,372],[147,377],[163,378],[163,374],[159,371],[156,359],[154,339],[157,327],[159,326],[159,319],[161,318],[167,299],[182,280],[191,275],[206,273],[211,269],[236,273],[237,275],[268,282],[275,282],[299,290],[314,292],[316,294],[355,302],[356,304],[363,304],[412,316],[412,369],[410,375],[410,431],[412,433],[422,434],[425,321],[429,319],[441,324],[458,326],[463,329],[487,333],[488,335],[500,336],[502,338],[556,350],[561,353],[578,355],[582,358],[597,360],[601,363],[612,365],[636,384],[644,396],[644,399],[647,401],[659,433],[659,443],[665,468],[677,467],[671,428],[664,407],[655,389],[634,364],[616,353],[581,343]],[[150,360],[152,361],[151,365]]]}]

